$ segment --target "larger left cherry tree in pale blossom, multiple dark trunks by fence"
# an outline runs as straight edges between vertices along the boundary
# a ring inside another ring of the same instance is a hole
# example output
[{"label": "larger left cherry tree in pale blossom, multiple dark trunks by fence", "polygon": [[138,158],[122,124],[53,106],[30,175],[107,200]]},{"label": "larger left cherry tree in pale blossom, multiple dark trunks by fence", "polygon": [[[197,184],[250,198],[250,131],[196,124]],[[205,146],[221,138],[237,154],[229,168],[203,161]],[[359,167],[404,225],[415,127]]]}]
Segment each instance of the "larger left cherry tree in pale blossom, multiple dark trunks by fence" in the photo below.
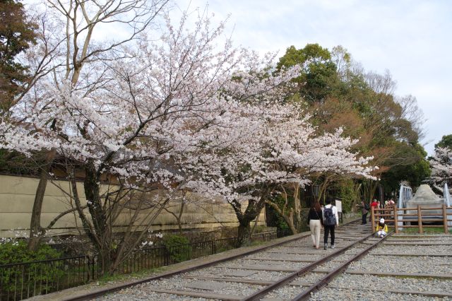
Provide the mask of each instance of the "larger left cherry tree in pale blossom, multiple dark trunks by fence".
[{"label": "larger left cherry tree in pale blossom, multiple dark trunks by fence", "polygon": [[[225,124],[244,131],[247,120],[263,112],[244,100],[270,97],[297,72],[257,76],[271,57],[257,61],[229,40],[218,47],[223,25],[210,28],[206,16],[190,30],[186,22],[184,16],[174,28],[167,18],[160,40],[143,37],[137,47],[110,52],[111,61],[102,61],[102,72],[95,73],[99,85],[75,85],[66,76],[36,83],[11,108],[11,117],[1,120],[0,147],[27,155],[54,152],[69,163],[67,193],[103,273],[112,273],[138,247],[172,195],[191,180],[189,169],[175,169],[175,163],[186,154],[196,157],[212,140],[224,146],[239,138],[211,135]],[[87,210],[76,184],[79,171]],[[105,191],[106,181],[116,185]],[[167,193],[149,201],[150,192],[161,187]],[[114,241],[112,229],[124,212],[124,235]]]}]

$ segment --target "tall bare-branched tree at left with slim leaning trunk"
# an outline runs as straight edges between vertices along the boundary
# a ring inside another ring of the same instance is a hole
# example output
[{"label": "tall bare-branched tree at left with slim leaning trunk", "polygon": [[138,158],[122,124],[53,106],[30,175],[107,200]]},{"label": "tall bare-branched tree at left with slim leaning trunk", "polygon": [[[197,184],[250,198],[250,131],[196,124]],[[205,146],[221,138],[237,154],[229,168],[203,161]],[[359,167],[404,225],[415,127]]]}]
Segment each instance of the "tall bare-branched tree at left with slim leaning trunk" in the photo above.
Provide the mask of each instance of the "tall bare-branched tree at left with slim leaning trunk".
[{"label": "tall bare-branched tree at left with slim leaning trunk", "polygon": [[[36,12],[32,19],[39,25],[37,45],[22,58],[30,66],[30,79],[23,84],[22,92],[13,104],[20,106],[28,102],[30,95],[31,98],[47,98],[47,85],[59,86],[61,82],[85,95],[102,88],[105,81],[109,81],[104,76],[105,62],[112,59],[112,54],[116,54],[115,59],[121,59],[121,47],[147,30],[167,2],[45,0],[36,4],[31,10]],[[118,30],[121,35],[95,39],[95,33],[105,25]],[[50,148],[40,155],[43,163],[30,221],[30,249],[37,248],[44,232],[41,208],[49,172],[59,153]]]}]

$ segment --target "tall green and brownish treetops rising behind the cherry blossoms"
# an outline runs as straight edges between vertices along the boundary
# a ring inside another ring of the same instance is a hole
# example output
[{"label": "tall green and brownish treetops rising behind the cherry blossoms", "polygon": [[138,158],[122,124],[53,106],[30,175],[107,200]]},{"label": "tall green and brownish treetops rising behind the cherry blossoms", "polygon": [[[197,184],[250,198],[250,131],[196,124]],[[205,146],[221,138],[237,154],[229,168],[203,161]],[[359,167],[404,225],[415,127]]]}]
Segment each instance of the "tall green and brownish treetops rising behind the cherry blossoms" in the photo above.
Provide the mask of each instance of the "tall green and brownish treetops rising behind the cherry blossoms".
[{"label": "tall green and brownish treetops rising behind the cherry blossoms", "polygon": [[[303,64],[295,80],[299,95],[292,99],[307,103],[307,112],[319,133],[343,127],[345,136],[359,138],[353,150],[374,157],[371,165],[380,167],[375,175],[381,178],[387,194],[403,180],[418,186],[430,170],[418,143],[420,131],[411,119],[405,118],[403,102],[394,98],[391,74],[352,69],[351,61],[343,47],[330,51],[308,44],[302,49],[287,48],[278,69]],[[452,135],[444,136],[438,144],[447,145],[452,146]],[[345,198],[344,210],[349,211],[349,184],[338,188]]]}]

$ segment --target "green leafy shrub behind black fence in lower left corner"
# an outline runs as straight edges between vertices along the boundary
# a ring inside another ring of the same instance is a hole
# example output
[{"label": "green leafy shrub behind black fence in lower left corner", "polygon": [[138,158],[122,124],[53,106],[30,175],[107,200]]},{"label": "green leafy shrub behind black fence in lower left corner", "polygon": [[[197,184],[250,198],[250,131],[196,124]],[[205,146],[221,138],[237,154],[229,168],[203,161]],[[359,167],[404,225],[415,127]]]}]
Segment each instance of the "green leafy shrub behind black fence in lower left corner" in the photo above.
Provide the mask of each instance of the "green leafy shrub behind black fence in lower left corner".
[{"label": "green leafy shrub behind black fence in lower left corner", "polygon": [[[0,266],[4,264],[24,263],[30,261],[42,261],[57,259],[61,253],[47,244],[41,244],[36,252],[29,251],[24,241],[6,242],[0,244]],[[64,275],[64,267],[61,262],[34,263],[28,265],[0,268],[0,295],[27,290],[35,291],[35,294],[49,292],[55,287],[57,281]],[[39,288],[35,283],[40,283]]]}]

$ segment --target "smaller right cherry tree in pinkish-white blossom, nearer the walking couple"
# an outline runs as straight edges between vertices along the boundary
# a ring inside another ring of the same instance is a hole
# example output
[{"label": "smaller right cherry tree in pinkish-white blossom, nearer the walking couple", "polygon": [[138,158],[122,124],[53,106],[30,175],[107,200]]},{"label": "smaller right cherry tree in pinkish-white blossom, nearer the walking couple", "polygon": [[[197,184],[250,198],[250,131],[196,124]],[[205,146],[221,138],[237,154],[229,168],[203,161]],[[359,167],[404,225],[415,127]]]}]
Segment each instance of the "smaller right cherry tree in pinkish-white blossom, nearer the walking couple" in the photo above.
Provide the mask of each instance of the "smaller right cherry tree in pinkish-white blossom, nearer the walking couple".
[{"label": "smaller right cherry tree in pinkish-white blossom, nearer the walking couple", "polygon": [[[249,242],[251,220],[279,185],[307,184],[307,176],[313,172],[373,178],[370,172],[376,167],[367,166],[371,158],[356,158],[349,149],[357,141],[343,138],[341,129],[317,136],[308,117],[302,117],[293,105],[270,103],[256,105],[253,110],[254,114],[236,114],[246,118],[246,128],[228,126],[233,124],[231,120],[210,128],[219,131],[209,135],[216,139],[205,141],[205,147],[196,150],[198,155],[183,163],[191,175],[186,186],[223,196],[234,208],[240,244]],[[229,138],[227,144],[225,137]],[[246,208],[244,200],[248,201]]]}]

